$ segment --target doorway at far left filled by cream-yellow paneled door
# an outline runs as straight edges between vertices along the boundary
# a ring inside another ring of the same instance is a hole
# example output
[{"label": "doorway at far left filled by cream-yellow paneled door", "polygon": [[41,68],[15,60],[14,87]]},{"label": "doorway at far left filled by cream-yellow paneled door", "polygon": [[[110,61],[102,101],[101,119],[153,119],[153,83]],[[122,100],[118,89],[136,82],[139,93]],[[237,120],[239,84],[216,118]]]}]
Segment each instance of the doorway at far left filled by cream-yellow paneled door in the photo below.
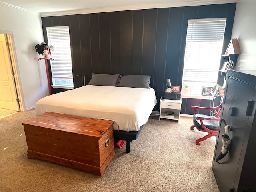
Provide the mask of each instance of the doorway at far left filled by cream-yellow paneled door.
[{"label": "doorway at far left filled by cream-yellow paneled door", "polygon": [[17,70],[11,34],[0,31],[0,109],[20,111]]}]

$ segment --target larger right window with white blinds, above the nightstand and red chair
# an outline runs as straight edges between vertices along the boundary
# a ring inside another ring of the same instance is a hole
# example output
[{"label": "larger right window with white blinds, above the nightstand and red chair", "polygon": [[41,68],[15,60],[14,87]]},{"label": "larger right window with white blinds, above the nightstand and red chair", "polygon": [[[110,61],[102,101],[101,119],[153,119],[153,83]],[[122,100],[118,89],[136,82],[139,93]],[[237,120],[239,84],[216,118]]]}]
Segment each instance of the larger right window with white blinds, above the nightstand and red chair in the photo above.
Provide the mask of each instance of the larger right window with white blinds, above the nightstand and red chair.
[{"label": "larger right window with white blinds, above the nightstand and red chair", "polygon": [[191,95],[217,82],[225,26],[226,18],[188,20],[182,84]]}]

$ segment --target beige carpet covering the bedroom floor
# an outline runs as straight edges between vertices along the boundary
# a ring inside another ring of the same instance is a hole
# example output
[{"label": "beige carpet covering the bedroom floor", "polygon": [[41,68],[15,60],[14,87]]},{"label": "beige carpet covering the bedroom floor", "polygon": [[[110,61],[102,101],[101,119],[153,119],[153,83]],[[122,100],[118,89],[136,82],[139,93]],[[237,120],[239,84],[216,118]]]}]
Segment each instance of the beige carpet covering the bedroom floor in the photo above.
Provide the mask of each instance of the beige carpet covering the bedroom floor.
[{"label": "beige carpet covering the bedroom floor", "polygon": [[212,172],[216,138],[200,146],[203,132],[191,131],[192,118],[177,123],[148,120],[140,136],[116,149],[103,176],[26,157],[22,122],[34,110],[18,112],[0,120],[1,192],[218,192]]}]

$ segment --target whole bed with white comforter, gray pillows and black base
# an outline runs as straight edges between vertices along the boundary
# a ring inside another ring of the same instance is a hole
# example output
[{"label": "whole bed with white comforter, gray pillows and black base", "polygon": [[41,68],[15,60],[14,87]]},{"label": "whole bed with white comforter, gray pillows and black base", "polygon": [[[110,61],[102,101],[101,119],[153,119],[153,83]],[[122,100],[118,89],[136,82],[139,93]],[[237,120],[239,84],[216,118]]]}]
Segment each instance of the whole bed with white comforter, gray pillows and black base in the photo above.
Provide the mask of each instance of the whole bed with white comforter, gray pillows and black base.
[{"label": "whole bed with white comforter, gray pillows and black base", "polygon": [[[112,120],[114,138],[126,140],[128,153],[130,142],[138,138],[156,105],[155,91],[149,87],[148,76],[106,75],[102,78],[102,75],[105,74],[93,74],[86,86],[42,98],[36,103],[36,115],[56,112]],[[115,78],[111,80],[113,76]],[[138,84],[141,79],[144,82]]]}]

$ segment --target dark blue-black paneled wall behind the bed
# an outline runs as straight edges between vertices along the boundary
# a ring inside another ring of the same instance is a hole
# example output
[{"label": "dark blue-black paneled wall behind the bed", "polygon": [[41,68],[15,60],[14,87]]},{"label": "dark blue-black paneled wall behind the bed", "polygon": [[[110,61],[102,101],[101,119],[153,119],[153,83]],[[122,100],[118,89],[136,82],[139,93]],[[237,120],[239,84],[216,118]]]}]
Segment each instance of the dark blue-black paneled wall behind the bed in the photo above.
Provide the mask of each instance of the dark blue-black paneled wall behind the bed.
[{"label": "dark blue-black paneled wall behind the bed", "polygon": [[[46,44],[46,27],[69,26],[74,88],[83,86],[83,76],[88,84],[92,73],[151,75],[150,87],[159,101],[167,78],[182,86],[188,20],[227,18],[224,53],[235,10],[236,3],[230,3],[52,16],[43,17],[42,26]],[[218,81],[223,79],[219,75]],[[52,93],[62,91],[52,88]],[[154,110],[159,110],[159,103]]]}]

